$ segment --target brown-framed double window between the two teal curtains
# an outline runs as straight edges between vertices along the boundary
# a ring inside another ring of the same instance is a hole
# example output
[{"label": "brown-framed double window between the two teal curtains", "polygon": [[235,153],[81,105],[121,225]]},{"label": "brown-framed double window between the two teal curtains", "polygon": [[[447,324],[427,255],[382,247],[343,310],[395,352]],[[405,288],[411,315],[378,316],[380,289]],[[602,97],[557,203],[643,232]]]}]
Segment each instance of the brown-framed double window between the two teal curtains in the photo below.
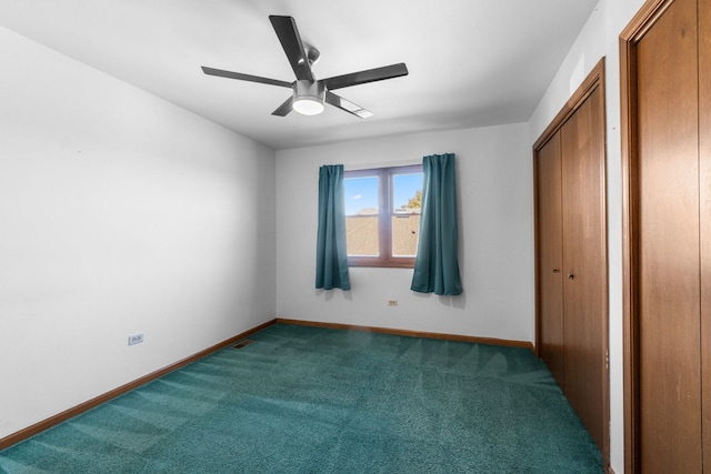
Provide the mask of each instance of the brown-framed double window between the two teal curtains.
[{"label": "brown-framed double window between the two teal curtains", "polygon": [[349,265],[413,268],[422,165],[347,171],[343,178]]}]

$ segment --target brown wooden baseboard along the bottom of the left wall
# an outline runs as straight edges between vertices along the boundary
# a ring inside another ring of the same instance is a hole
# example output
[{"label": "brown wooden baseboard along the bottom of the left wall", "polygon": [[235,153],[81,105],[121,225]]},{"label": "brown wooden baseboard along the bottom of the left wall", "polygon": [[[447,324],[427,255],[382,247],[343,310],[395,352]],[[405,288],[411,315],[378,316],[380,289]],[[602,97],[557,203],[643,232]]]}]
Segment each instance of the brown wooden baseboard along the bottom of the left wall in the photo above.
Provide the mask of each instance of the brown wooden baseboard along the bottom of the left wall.
[{"label": "brown wooden baseboard along the bottom of the left wall", "polygon": [[97,396],[94,399],[91,399],[91,400],[89,400],[87,402],[80,403],[77,406],[72,406],[69,410],[66,410],[66,411],[63,411],[61,413],[58,413],[58,414],[56,414],[53,416],[50,416],[49,418],[42,420],[41,422],[38,422],[38,423],[36,423],[36,424],[33,424],[31,426],[28,426],[28,427],[26,427],[23,430],[20,430],[20,431],[16,432],[16,433],[12,433],[9,436],[0,438],[0,451],[4,450],[7,447],[10,447],[13,444],[17,444],[17,443],[19,443],[21,441],[24,441],[28,437],[34,436],[36,434],[38,434],[40,432],[43,432],[44,430],[48,430],[48,428],[50,428],[50,427],[52,427],[54,425],[58,425],[58,424],[60,424],[62,422],[66,422],[67,420],[69,420],[71,417],[74,417],[74,416],[77,416],[77,415],[79,415],[79,414],[81,414],[83,412],[87,412],[87,411],[89,411],[89,410],[91,410],[91,409],[93,409],[96,406],[99,406],[102,403],[106,403],[106,402],[108,402],[108,401],[110,401],[112,399],[116,399],[119,395],[123,395],[124,393],[130,392],[133,389],[137,389],[137,387],[139,387],[139,386],[141,386],[141,385],[143,385],[143,384],[146,384],[148,382],[151,382],[151,381],[153,381],[153,380],[156,380],[158,377],[161,377],[161,376],[163,376],[163,375],[166,375],[166,374],[168,374],[168,373],[170,373],[170,372],[172,372],[172,371],[174,371],[177,369],[180,369],[182,366],[191,364],[191,363],[193,363],[193,362],[196,362],[196,361],[198,361],[198,360],[200,360],[200,359],[202,359],[202,357],[204,357],[207,355],[212,354],[213,352],[217,352],[217,351],[219,351],[219,350],[221,350],[223,347],[227,347],[228,345],[233,344],[233,343],[236,343],[236,342],[238,342],[238,341],[240,341],[240,340],[242,340],[242,339],[244,339],[244,337],[247,337],[247,336],[249,336],[251,334],[254,334],[256,332],[259,332],[259,331],[263,330],[264,327],[269,327],[274,323],[277,323],[277,320],[268,321],[268,322],[266,322],[263,324],[258,325],[257,327],[252,327],[249,331],[244,331],[243,333],[240,333],[240,334],[238,334],[238,335],[236,335],[233,337],[230,337],[230,339],[228,339],[226,341],[222,341],[222,342],[220,342],[220,343],[218,343],[218,344],[216,344],[216,345],[213,345],[211,347],[208,347],[208,349],[206,349],[203,351],[200,351],[200,352],[198,352],[198,353],[196,353],[193,355],[190,355],[189,357],[186,357],[183,360],[174,362],[174,363],[172,363],[172,364],[170,364],[170,365],[168,365],[168,366],[166,366],[163,369],[159,369],[156,372],[151,372],[148,375],[143,375],[140,379],[137,379],[137,380],[134,380],[132,382],[129,382],[129,383],[127,383],[124,385],[116,387],[116,389],[113,389],[113,390],[111,390],[111,391],[109,391],[109,392],[107,392],[107,393],[104,393],[102,395],[99,395],[99,396]]}]

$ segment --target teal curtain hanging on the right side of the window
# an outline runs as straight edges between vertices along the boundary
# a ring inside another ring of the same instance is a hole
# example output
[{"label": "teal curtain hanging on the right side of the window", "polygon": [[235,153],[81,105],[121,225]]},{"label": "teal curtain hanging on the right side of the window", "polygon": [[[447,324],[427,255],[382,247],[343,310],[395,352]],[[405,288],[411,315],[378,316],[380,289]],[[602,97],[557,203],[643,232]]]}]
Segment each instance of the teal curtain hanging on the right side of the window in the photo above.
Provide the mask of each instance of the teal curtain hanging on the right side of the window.
[{"label": "teal curtain hanging on the right side of the window", "polygon": [[457,261],[457,189],[454,154],[422,159],[420,241],[412,291],[442,295],[462,292]]}]

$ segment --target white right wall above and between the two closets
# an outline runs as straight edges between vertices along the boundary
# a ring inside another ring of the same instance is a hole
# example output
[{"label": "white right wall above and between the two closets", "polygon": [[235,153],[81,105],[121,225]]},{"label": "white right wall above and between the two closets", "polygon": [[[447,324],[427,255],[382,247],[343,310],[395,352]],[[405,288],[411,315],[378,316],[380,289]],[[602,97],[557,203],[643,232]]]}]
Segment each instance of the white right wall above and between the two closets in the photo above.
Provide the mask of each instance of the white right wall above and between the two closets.
[{"label": "white right wall above and between the two closets", "polygon": [[618,474],[624,471],[619,36],[643,3],[644,0],[601,0],[598,3],[530,120],[531,142],[533,142],[600,58],[605,57],[610,275],[610,458],[612,468]]}]

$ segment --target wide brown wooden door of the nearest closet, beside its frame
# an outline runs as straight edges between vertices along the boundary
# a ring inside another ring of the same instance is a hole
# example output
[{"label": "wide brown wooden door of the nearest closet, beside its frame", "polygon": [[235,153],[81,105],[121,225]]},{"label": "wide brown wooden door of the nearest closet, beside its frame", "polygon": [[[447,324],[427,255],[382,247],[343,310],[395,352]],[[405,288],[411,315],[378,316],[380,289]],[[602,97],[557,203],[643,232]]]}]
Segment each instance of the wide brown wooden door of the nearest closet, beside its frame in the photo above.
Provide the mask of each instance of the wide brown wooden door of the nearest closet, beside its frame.
[{"label": "wide brown wooden door of the nearest closet, beside its frame", "polygon": [[700,473],[697,1],[637,47],[639,417],[643,473]]}]

